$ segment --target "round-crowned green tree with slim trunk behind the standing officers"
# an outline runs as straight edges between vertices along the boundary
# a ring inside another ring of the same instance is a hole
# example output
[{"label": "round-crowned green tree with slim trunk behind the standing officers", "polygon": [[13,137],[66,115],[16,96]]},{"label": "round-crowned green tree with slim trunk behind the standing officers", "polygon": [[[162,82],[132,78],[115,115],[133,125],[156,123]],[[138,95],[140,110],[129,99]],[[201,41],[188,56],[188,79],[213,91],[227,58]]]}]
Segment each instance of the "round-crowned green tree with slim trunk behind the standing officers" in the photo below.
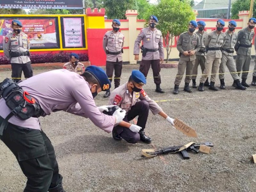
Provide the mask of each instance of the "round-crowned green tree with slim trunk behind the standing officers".
[{"label": "round-crowned green tree with slim trunk behind the standing officers", "polygon": [[147,22],[152,14],[156,15],[159,21],[157,28],[163,35],[167,52],[166,62],[168,62],[174,37],[187,31],[189,21],[195,20],[196,16],[190,6],[190,1],[180,0],[161,0],[145,14]]}]

